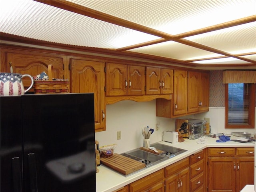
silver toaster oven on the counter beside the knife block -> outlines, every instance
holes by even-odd
[[[204,136],[205,130],[204,120],[188,119],[188,138],[197,139]]]

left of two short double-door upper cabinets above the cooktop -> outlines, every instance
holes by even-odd
[[[145,68],[106,63],[106,96],[144,95]]]

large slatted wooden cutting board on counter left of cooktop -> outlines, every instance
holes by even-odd
[[[124,175],[128,175],[145,167],[144,163],[138,162],[117,153],[114,153],[110,157],[101,157],[100,163]]]

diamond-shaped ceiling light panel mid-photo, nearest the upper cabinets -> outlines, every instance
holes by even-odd
[[[195,59],[195,55],[197,56],[197,58],[222,56],[220,54],[215,54],[173,41],[135,48],[129,51],[156,55],[166,58],[174,58],[178,60],[192,60]]]

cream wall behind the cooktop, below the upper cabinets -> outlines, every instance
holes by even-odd
[[[194,115],[182,118],[194,118]],[[160,124],[158,131],[157,122]],[[95,139],[99,141],[99,146],[117,144],[114,152],[126,152],[143,145],[141,128],[145,126],[155,130],[150,142],[159,142],[164,130],[175,130],[175,119],[156,117],[156,100],[121,101],[106,106],[106,131],[95,133]],[[121,140],[116,140],[117,131],[121,131]]]

